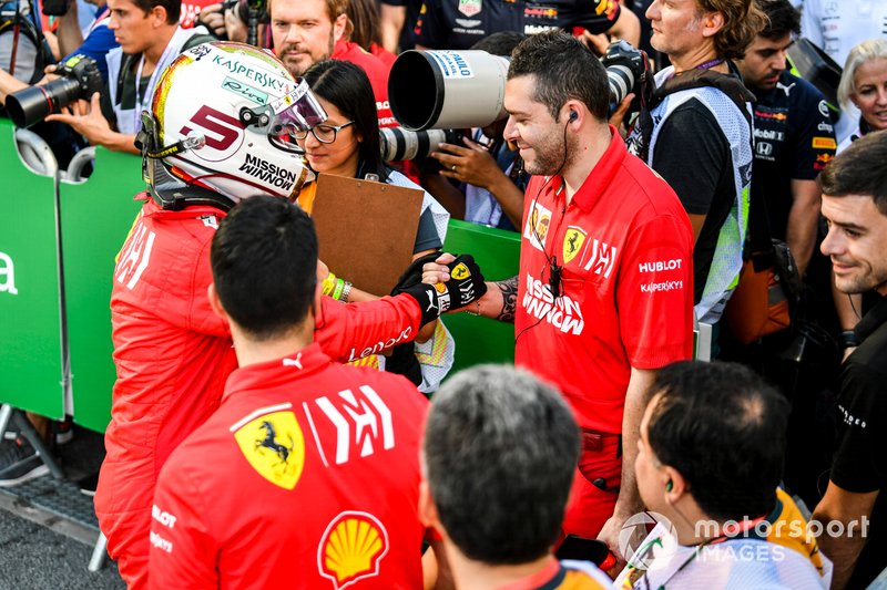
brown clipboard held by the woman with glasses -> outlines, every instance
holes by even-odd
[[[356,288],[388,294],[412,261],[422,196],[415,188],[318,175],[312,217],[320,260]]]

